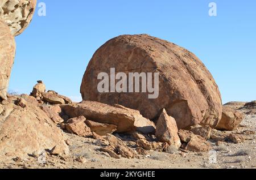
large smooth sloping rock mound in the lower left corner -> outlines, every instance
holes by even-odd
[[[25,157],[56,145],[68,153],[61,131],[43,110],[28,102],[22,108],[15,105],[13,99],[7,105],[0,105],[1,158]]]

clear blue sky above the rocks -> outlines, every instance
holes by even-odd
[[[38,0],[16,37],[12,91],[30,93],[36,80],[47,89],[80,98],[82,75],[93,53],[118,35],[147,33],[183,46],[209,68],[223,102],[256,100],[256,1]],[[208,15],[217,3],[217,16]],[[38,9],[37,9],[38,10]]]

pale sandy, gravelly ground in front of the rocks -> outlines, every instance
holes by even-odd
[[[246,130],[246,131],[245,131]],[[241,144],[234,144],[226,141],[220,146],[216,146],[214,140],[210,139],[212,151],[209,153],[176,152],[174,154],[166,152],[150,152],[150,156],[140,156],[139,159],[115,159],[107,153],[98,151],[101,147],[97,140],[91,138],[81,138],[76,135],[64,132],[68,139],[70,155],[67,157],[46,156],[39,158],[28,157],[25,160],[19,158],[15,160],[0,162],[0,168],[82,168],[82,169],[148,169],[148,168],[256,168],[256,146],[255,132],[256,115],[246,115],[241,123],[241,127],[234,133],[246,134],[246,141]],[[250,133],[248,133],[250,132]],[[230,132],[214,131],[217,135],[229,135]],[[122,135],[119,135],[122,137]],[[127,142],[133,147],[134,142]],[[78,158],[82,161],[78,160]],[[82,158],[81,158],[82,157]]]

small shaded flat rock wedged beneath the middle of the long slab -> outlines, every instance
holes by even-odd
[[[114,131],[117,130],[117,126],[115,125],[98,123],[98,122],[89,121],[89,120],[86,120],[85,123],[88,127],[90,127],[90,131],[95,132],[100,136],[112,134]]]

